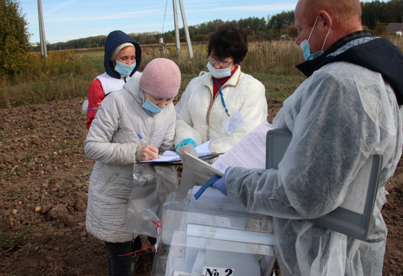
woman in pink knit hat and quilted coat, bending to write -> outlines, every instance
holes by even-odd
[[[138,235],[125,230],[128,201],[133,186],[139,184],[133,180],[136,167],[148,166],[135,165],[133,170],[133,164],[174,150],[172,100],[180,80],[175,62],[151,60],[143,73],[133,75],[122,89],[102,101],[84,142],[86,155],[96,160],[86,228],[106,244],[109,275],[131,275],[132,256],[122,255],[132,252],[132,240]]]

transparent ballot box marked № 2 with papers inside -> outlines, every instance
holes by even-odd
[[[272,275],[272,217],[247,213],[216,189],[195,200],[199,188],[168,195],[151,275]]]

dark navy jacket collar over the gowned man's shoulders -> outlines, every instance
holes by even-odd
[[[397,103],[403,104],[403,54],[386,38],[375,38],[368,31],[351,33],[330,46],[321,56],[296,67],[310,77],[322,66],[337,61],[354,63],[382,75],[393,88]]]

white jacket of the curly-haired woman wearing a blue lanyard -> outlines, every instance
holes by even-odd
[[[194,78],[187,85],[175,105],[175,145],[191,138],[196,145],[211,139],[211,152],[225,153],[264,120],[267,120],[267,102],[264,86],[250,75],[241,72],[241,66],[221,88],[230,115],[239,111],[244,124],[230,135],[223,122],[228,119],[221,96],[213,99],[213,76],[210,73]]]

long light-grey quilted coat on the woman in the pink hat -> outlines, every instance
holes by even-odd
[[[88,190],[86,228],[102,241],[126,242],[135,237],[124,231],[124,225],[133,164],[141,161],[137,133],[160,152],[173,150],[175,108],[169,104],[159,113],[142,108],[141,75],[131,77],[123,89],[102,101],[84,142],[86,155],[96,160]]]

